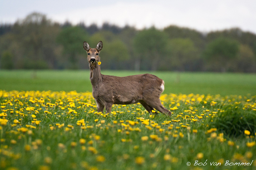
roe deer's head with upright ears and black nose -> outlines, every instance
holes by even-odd
[[[83,42],[83,49],[87,51],[87,60],[89,65],[96,65],[100,61],[100,50],[103,48],[103,43],[100,41],[96,48],[90,48],[87,42]]]

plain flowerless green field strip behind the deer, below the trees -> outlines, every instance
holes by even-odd
[[[150,73],[165,81],[164,94],[256,95],[256,74],[102,71],[127,76]],[[11,91],[92,91],[88,70],[1,70],[0,89]]]

